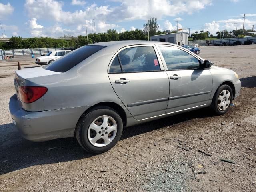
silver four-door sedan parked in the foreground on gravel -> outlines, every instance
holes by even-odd
[[[239,96],[237,74],[166,42],[83,46],[42,68],[17,70],[9,109],[22,136],[75,136],[102,153],[123,127],[210,107],[224,114]]]

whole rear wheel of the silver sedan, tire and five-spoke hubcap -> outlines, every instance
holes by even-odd
[[[103,153],[121,138],[123,122],[116,110],[98,106],[83,115],[76,126],[76,139],[88,152]]]

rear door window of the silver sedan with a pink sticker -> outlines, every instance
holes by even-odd
[[[152,46],[127,48],[118,55],[123,72],[160,71]]]

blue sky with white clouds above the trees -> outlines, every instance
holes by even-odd
[[[190,28],[190,32],[242,28],[256,25],[256,0],[0,0],[0,20],[5,37],[85,35],[116,29],[142,29],[157,17],[160,30]],[[93,20],[94,19],[94,20]],[[255,26],[256,28],[256,26]],[[0,29],[0,37],[2,38]]]

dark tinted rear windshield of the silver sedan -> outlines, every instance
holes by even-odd
[[[104,47],[106,46],[86,45],[80,47],[72,51],[72,53],[62,56],[51,64],[46,65],[44,69],[55,72],[66,72]]]

